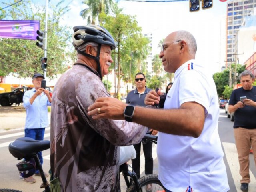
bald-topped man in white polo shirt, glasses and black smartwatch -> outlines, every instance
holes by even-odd
[[[227,192],[216,86],[212,75],[194,60],[196,50],[189,32],[176,31],[165,38],[159,57],[164,70],[174,73],[174,83],[163,110],[132,108],[114,98],[98,98],[88,114],[94,119],[129,116],[133,122],[158,130],[159,179],[166,192]],[[158,104],[161,94],[150,91],[145,104]]]

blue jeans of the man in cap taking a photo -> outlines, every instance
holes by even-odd
[[[44,131],[45,131],[45,128],[25,129],[25,137],[30,137],[34,140],[42,141],[44,140]],[[40,160],[40,163],[43,164],[42,151],[40,151],[37,155]],[[39,170],[36,170],[36,174],[38,173],[39,173]]]

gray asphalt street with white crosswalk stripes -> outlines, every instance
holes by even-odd
[[[0,107],[1,108],[1,107]],[[1,114],[0,114],[1,118]],[[1,120],[1,119],[0,119]],[[15,118],[12,119],[15,121]],[[230,186],[230,192],[240,192],[240,175],[239,175],[239,164],[238,164],[238,155],[236,152],[236,147],[234,144],[234,134],[233,134],[233,123],[227,115],[225,114],[224,109],[220,109],[219,117],[219,134],[220,140],[222,142],[222,147],[224,150],[224,162],[226,164],[226,170],[228,173],[228,183]],[[8,122],[1,122],[1,124],[8,124]],[[50,128],[46,128],[45,140],[50,139]],[[24,130],[12,130],[7,132],[0,132],[0,160],[2,166],[0,168],[0,188],[13,188],[22,190],[24,192],[38,192],[42,191],[40,189],[41,178],[34,176],[36,183],[29,184],[24,182],[19,178],[18,169],[16,164],[20,161],[17,161],[8,151],[8,145],[11,141],[15,140],[18,137],[24,136]],[[143,150],[141,150],[143,151]],[[50,150],[43,151],[44,171],[50,169]],[[207,151],[206,151],[207,152]],[[156,156],[156,145],[153,144],[153,158],[154,158],[154,174],[158,174],[158,161]],[[129,162],[130,163],[130,162]],[[144,155],[141,154],[141,176],[144,176]],[[250,154],[250,176],[251,182],[249,184],[249,192],[255,192],[256,190],[256,179],[255,179],[255,164],[253,159],[253,154]],[[121,188],[122,191],[125,191],[126,186],[124,180],[121,178]],[[49,180],[49,177],[47,178]]]

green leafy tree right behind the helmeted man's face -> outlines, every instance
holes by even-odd
[[[138,26],[134,16],[125,15],[116,7],[114,9],[115,16],[109,16],[101,13],[99,18],[102,20],[104,26],[110,34],[112,34],[116,41],[116,50],[112,51],[114,54],[114,67],[117,73],[117,95],[120,92],[120,80],[124,78],[126,82],[131,80],[130,77],[136,72],[144,72],[146,64],[145,58],[149,52],[149,40],[145,38]]]

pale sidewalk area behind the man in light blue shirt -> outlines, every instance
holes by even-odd
[[[20,106],[0,106],[0,133],[23,129],[25,126],[26,111]],[[48,113],[50,123],[50,113]]]

